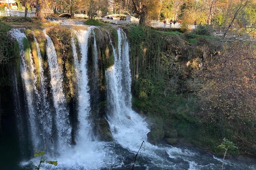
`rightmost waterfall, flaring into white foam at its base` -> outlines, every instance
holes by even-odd
[[[118,58],[114,49],[114,66],[106,71],[108,120],[115,140],[123,147],[136,151],[147,140],[147,123],[131,109],[131,75],[127,37],[118,30]]]

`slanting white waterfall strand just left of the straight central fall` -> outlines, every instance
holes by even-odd
[[[56,129],[53,133],[57,133],[59,149],[65,149],[65,146],[71,141],[71,127],[68,117],[68,108],[66,106],[65,95],[62,88],[63,76],[57,63],[57,54],[51,38],[46,34],[47,38],[46,53],[48,57],[49,69],[51,72],[51,87],[54,99],[54,108],[56,110],[55,124]]]

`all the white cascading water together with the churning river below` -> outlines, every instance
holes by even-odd
[[[98,61],[100,56],[98,56],[99,49],[97,47],[98,42],[96,41],[96,37],[99,35],[95,34],[97,31],[95,30],[94,32],[94,29],[98,28],[84,26],[80,30],[73,30],[80,50],[77,49],[75,39],[71,39],[74,69],[77,78],[76,95],[78,101],[76,108],[78,111],[78,125],[75,131],[75,145],[70,144],[70,115],[62,86],[64,73],[57,62],[57,55],[51,38],[46,34],[46,30],[44,30],[44,35],[47,38],[46,53],[51,77],[50,92],[46,88],[45,74],[47,73],[44,73],[42,57],[36,38],[34,39],[39,58],[40,90],[36,88],[36,76],[34,75],[30,51],[30,64],[26,62],[23,47],[23,38],[26,38],[26,35],[19,29],[11,30],[11,34],[18,40],[20,45],[21,76],[25,87],[24,91],[29,113],[29,135],[33,141],[33,147],[40,146],[41,144],[44,145],[44,140],[47,140],[47,138],[48,141],[53,141],[53,144],[48,143],[50,146],[47,146],[48,150],[46,152],[49,149],[54,152],[53,154],[47,153],[45,157],[49,160],[57,160],[58,165],[56,167],[45,165],[46,169],[128,170],[132,167],[135,154],[140,148],[142,141],[145,141],[145,151],[141,152],[141,157],[137,157],[135,169],[208,170],[219,168],[222,162],[204,152],[191,151],[169,145],[154,146],[147,142],[147,133],[150,132],[147,127],[148,124],[143,117],[131,108],[129,45],[126,34],[122,29],[117,30],[118,50],[114,47],[114,43],[109,35],[110,43],[113,47],[114,65],[106,69],[105,72],[106,99],[104,100],[106,100],[107,104],[106,119],[115,141],[103,142],[94,140],[92,137],[94,122],[90,117],[94,111],[91,106],[91,98],[97,93],[90,89],[88,85],[90,81],[93,81],[93,86],[96,86],[95,82],[99,79]],[[91,47],[88,42],[90,42],[91,35],[94,38],[93,57],[88,56],[88,47]],[[78,58],[78,53],[80,53],[81,58]],[[88,74],[88,57],[93,58],[91,77]],[[91,93],[95,94],[91,95]],[[54,108],[49,108],[51,107],[51,104],[49,104],[50,99],[47,98],[49,95],[52,95]],[[49,140],[49,138],[51,139]],[[38,160],[32,160],[32,164],[36,165],[37,163]],[[30,165],[23,162],[23,166],[29,167]],[[234,169],[245,167],[246,164],[239,165],[232,161],[227,161],[225,166],[226,169]],[[250,165],[246,168],[255,169],[255,166]]]

